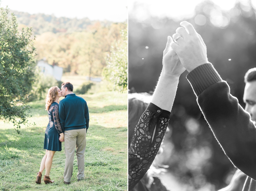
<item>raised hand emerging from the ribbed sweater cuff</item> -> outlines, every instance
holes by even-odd
[[[172,41],[170,46],[179,56],[181,64],[191,72],[199,65],[208,63],[206,45],[189,22],[183,21],[180,25],[182,27],[177,28],[172,36],[177,43]]]

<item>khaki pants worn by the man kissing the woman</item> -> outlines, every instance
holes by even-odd
[[[73,163],[75,148],[77,149],[77,179],[84,178],[84,152],[86,146],[86,129],[75,129],[65,131],[65,169],[64,169],[64,181],[70,182],[73,174]]]

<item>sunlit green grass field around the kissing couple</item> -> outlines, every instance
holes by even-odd
[[[77,182],[77,161],[71,184],[63,183],[64,144],[53,158],[53,184],[36,184],[36,174],[45,154],[44,131],[48,114],[44,100],[31,102],[29,122],[18,135],[0,120],[0,190],[127,190],[127,94],[101,92],[80,95],[89,107],[90,126],[86,135],[85,180]],[[44,171],[45,173],[45,171]],[[43,173],[43,175],[44,175]]]

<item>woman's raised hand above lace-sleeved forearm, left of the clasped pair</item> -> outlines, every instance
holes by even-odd
[[[173,42],[172,38],[168,36],[166,48],[163,56],[163,70],[162,74],[166,77],[178,77],[186,70],[181,64],[178,55],[170,44]]]

